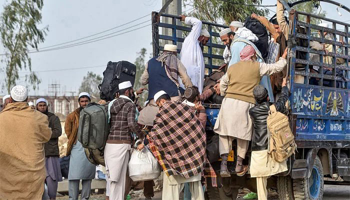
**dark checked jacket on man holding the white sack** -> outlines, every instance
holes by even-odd
[[[135,121],[136,106],[129,99],[119,97],[110,106],[110,140],[131,141],[131,132],[143,139],[144,134]],[[113,141],[116,142],[116,141]]]

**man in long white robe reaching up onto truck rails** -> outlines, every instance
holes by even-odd
[[[202,92],[204,81],[204,58],[202,49],[210,39],[210,34],[206,29],[201,29],[201,21],[195,17],[180,15],[181,21],[187,25],[192,25],[189,34],[184,38],[180,51],[180,59],[186,67],[187,74],[193,85]],[[181,85],[182,88],[183,85]]]

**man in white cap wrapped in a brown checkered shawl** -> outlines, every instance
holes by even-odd
[[[216,186],[216,175],[205,154],[205,131],[191,108],[170,100],[165,91],[154,95],[159,112],[149,133],[149,147],[164,171],[162,199],[179,199],[189,183],[192,199],[204,199],[201,174]]]

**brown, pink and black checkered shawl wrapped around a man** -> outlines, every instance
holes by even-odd
[[[149,133],[149,147],[166,175],[189,178],[198,173],[211,177],[216,174],[205,154],[205,131],[190,107],[183,103],[164,103],[154,118]]]

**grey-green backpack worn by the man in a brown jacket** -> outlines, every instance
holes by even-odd
[[[91,163],[104,166],[103,150],[108,134],[108,109],[105,105],[90,102],[80,111],[77,139]]]

